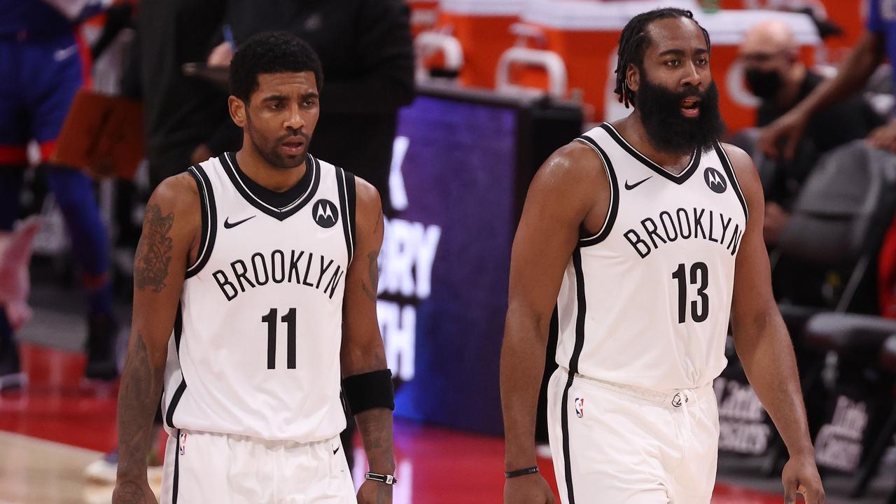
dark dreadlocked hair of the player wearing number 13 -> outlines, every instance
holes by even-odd
[[[650,43],[650,37],[647,35],[647,28],[650,26],[650,23],[671,18],[694,20],[694,13],[685,9],[667,7],[640,13],[634,16],[631,21],[625,23],[622,35],[619,36],[618,59],[616,60],[616,89],[614,92],[619,95],[619,102],[624,104],[626,109],[628,109],[630,104],[634,103],[635,98],[635,92],[629,89],[628,84],[625,83],[625,73],[628,70],[628,65],[642,65],[644,49]],[[709,50],[710,33],[700,26],[699,22],[697,22],[697,26],[703,32],[703,38],[706,39],[706,49]]]

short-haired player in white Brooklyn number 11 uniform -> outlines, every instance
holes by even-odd
[[[134,258],[113,504],[155,503],[146,476],[162,402],[162,504],[389,504],[392,375],[376,322],[376,189],[308,153],[321,64],[288,33],[230,65],[243,148],[165,179]],[[357,500],[340,444],[344,391],[370,472]]]

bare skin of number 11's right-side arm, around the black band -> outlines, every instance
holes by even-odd
[[[379,280],[376,257],[383,244],[383,207],[374,187],[360,178],[356,178],[356,184],[358,240],[345,283],[345,329],[341,354],[343,377],[387,368],[383,337],[376,322],[376,286]],[[364,441],[370,471],[393,474],[392,412],[386,408],[371,408],[355,415],[355,421]],[[358,491],[358,504],[389,502],[392,502],[390,485],[367,481]]]

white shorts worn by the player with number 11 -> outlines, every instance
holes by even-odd
[[[175,430],[161,504],[356,504],[339,436],[314,443]]]

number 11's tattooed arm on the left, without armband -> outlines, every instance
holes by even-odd
[[[155,503],[146,479],[153,417],[159,407],[186,266],[201,227],[199,194],[187,174],[168,178],[146,205],[134,256],[134,317],[118,390],[118,477],[113,504]]]

